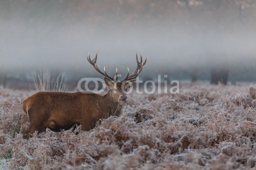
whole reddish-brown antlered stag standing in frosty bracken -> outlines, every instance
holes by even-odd
[[[29,117],[30,126],[23,138],[28,139],[35,131],[45,132],[46,128],[54,132],[61,129],[67,130],[74,125],[81,125],[84,131],[90,131],[100,118],[108,118],[111,115],[119,116],[122,113],[122,104],[127,96],[125,90],[136,82],[136,77],[141,72],[147,59],[140,61],[136,54],[137,68],[130,74],[129,68],[124,80],[117,80],[117,69],[115,76],[111,77],[100,71],[97,67],[97,54],[95,59],[87,57],[88,62],[104,76],[106,85],[109,87],[108,94],[85,94],[83,92],[37,92],[24,100],[22,108]],[[124,89],[124,90],[122,90]]]

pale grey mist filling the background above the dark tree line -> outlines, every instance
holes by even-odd
[[[253,1],[8,1],[0,2],[0,71],[47,67],[95,74],[86,56],[98,53],[109,73],[143,74],[256,68]],[[147,75],[149,76],[149,75]]]

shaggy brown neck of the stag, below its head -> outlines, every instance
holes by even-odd
[[[111,90],[104,96],[104,101],[106,103],[105,109],[108,111],[109,116],[120,116],[122,114],[122,105],[114,101]]]

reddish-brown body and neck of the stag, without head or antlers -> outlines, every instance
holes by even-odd
[[[67,130],[76,124],[82,125],[84,131],[90,131],[100,118],[108,118],[114,113],[121,115],[122,106],[111,98],[111,92],[105,96],[38,92],[23,102],[23,110],[31,122],[27,136],[35,131],[45,132],[46,128],[56,132]]]

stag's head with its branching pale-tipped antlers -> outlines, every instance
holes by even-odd
[[[109,96],[113,99],[115,103],[124,104],[126,103],[126,92],[129,90],[134,83],[136,83],[136,78],[142,71],[143,66],[146,64],[147,59],[143,62],[143,59],[140,55],[140,61],[138,60],[138,55],[136,53],[136,62],[137,62],[137,68],[136,70],[130,74],[129,67],[127,67],[127,75],[122,81],[118,81],[118,72],[116,68],[115,76],[109,76],[108,73],[106,73],[106,67],[104,67],[104,72],[100,71],[99,67],[97,66],[97,53],[95,55],[95,58],[92,60],[90,58],[90,54],[87,57],[88,62],[92,64],[92,66],[104,76],[104,81],[106,85],[109,87]]]

